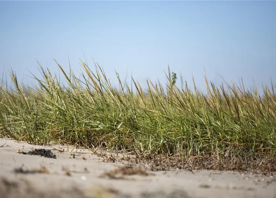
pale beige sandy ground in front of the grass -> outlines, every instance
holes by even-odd
[[[25,155],[20,151],[52,150],[56,158]],[[19,151],[19,152],[18,152]],[[73,156],[75,154],[75,156]],[[1,197],[276,197],[276,174],[243,174],[233,171],[147,171],[133,175],[105,174],[127,162],[103,162],[87,149],[67,146],[34,146],[0,138]],[[41,173],[16,173],[40,170]],[[138,170],[135,172],[135,170]],[[118,171],[117,171],[118,172]],[[137,173],[137,174],[135,174]],[[105,177],[101,177],[105,175]]]

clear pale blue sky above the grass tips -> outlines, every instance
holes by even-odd
[[[28,85],[36,59],[57,72],[69,56],[78,73],[82,50],[114,83],[114,68],[165,83],[168,64],[200,89],[204,68],[215,84],[276,82],[276,1],[0,1],[0,19],[0,71]]]

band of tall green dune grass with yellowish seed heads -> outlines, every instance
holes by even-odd
[[[142,90],[120,80],[112,86],[103,69],[95,72],[81,62],[85,73],[78,79],[70,68],[57,75],[41,71],[34,76],[40,87],[23,88],[14,72],[16,89],[0,89],[0,136],[31,144],[102,146],[113,150],[167,156],[205,156],[225,159],[236,156],[273,156],[276,151],[276,95],[265,87],[263,94],[236,84],[215,87],[206,80],[207,93],[175,85],[168,71],[163,88],[147,80]],[[124,87],[124,88],[123,88]]]

